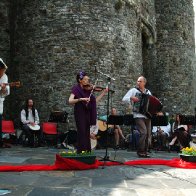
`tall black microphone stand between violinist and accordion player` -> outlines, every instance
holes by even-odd
[[[108,74],[102,73],[99,70],[97,70],[97,72],[107,78],[107,88],[108,88],[108,92],[107,92],[107,121],[106,121],[106,148],[105,148],[105,156],[99,160],[99,161],[104,161],[104,164],[103,164],[103,168],[104,168],[106,165],[106,161],[118,162],[120,164],[123,164],[123,163],[119,162],[119,161],[115,161],[115,160],[110,160],[109,155],[108,155],[108,128],[109,128],[108,119],[109,119],[109,105],[110,105],[110,85],[111,85],[111,80],[115,80],[115,79],[112,78],[111,76],[109,76]]]

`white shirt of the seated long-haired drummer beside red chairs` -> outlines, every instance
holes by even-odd
[[[35,119],[33,117],[32,110],[28,109],[28,111],[29,111],[28,119],[26,119],[26,112],[25,112],[25,110],[23,109],[21,111],[21,122],[23,124],[29,124],[30,122],[35,122],[35,124],[38,125],[39,124],[39,116],[38,116],[37,110],[35,109]]]

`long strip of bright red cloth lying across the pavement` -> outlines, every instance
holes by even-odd
[[[122,165],[118,162],[100,162],[95,161],[94,164],[88,165],[73,159],[62,158],[56,155],[56,161],[54,165],[1,165],[0,172],[21,172],[21,171],[52,171],[52,170],[87,170],[96,169],[99,166],[115,166]],[[183,169],[196,169],[196,163],[185,162],[179,158],[171,160],[164,159],[139,159],[133,161],[124,162],[125,166],[133,165],[165,165],[169,167],[183,168]]]

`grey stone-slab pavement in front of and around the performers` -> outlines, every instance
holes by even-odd
[[[12,148],[0,149],[0,165],[5,164],[53,164],[55,148]],[[97,157],[104,157],[105,150],[96,150]],[[112,160],[113,149],[107,153]],[[152,152],[152,158],[171,159],[175,152]],[[116,160],[138,159],[133,151],[118,150]],[[193,196],[196,194],[196,170],[166,166],[111,166],[85,171],[39,171],[1,172],[0,195],[14,196],[126,196],[164,195]]]

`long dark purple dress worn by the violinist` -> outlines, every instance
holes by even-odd
[[[84,90],[78,84],[72,88],[75,99],[88,98],[90,91]],[[90,125],[96,125],[97,111],[96,99],[91,95],[90,102],[78,102],[74,106],[74,117],[77,127],[77,153],[91,151]]]

